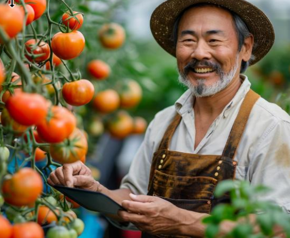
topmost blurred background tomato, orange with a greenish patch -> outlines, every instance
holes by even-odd
[[[103,47],[117,49],[125,41],[125,31],[117,23],[104,24],[99,31],[99,39]]]

